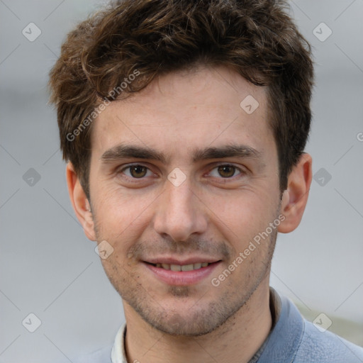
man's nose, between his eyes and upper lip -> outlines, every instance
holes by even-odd
[[[159,199],[154,218],[154,228],[163,238],[184,242],[191,235],[206,231],[208,219],[206,206],[195,191],[189,179],[175,186],[169,180]]]

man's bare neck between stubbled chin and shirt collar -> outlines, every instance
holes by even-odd
[[[140,318],[124,303],[128,362],[249,362],[272,327],[269,279],[265,279],[240,310],[212,333],[199,337],[168,335]]]

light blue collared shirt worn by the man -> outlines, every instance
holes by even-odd
[[[289,298],[270,289],[272,330],[249,363],[363,363],[363,348],[301,316]],[[130,363],[125,354],[126,325],[113,347],[99,350],[79,363]]]

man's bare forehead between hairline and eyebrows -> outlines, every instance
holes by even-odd
[[[190,161],[191,150],[231,144],[263,153],[274,148],[267,116],[266,88],[230,69],[173,72],[102,111],[93,125],[92,154],[125,143]]]

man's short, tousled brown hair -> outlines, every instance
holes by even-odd
[[[123,94],[140,91],[156,75],[200,64],[231,67],[267,86],[280,189],[286,189],[308,138],[313,87],[311,46],[288,8],[284,0],[124,0],[79,23],[50,72],[50,89],[63,158],[86,195],[95,108],[115,99],[110,93],[130,74],[138,77]]]

